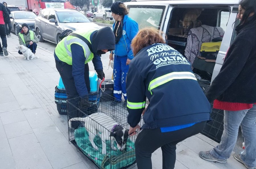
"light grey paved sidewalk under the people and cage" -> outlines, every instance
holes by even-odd
[[[69,144],[67,116],[59,115],[54,103],[59,73],[53,54],[38,47],[40,59],[23,60],[15,49],[18,38],[8,37],[7,43],[9,55],[0,57],[0,168],[96,168]],[[175,168],[245,168],[233,157],[218,164],[198,156],[217,144],[201,134],[182,141]],[[153,153],[152,163],[153,168],[162,168],[160,149]]]

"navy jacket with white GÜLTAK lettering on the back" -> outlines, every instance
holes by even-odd
[[[210,119],[210,103],[199,86],[190,63],[166,44],[144,47],[130,62],[126,81],[127,121],[142,128],[170,127]]]

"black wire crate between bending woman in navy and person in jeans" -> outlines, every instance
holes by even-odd
[[[209,89],[209,87],[210,86],[207,87],[205,92]],[[211,104],[211,107],[213,107],[213,104]],[[224,130],[224,111],[212,108],[210,117],[212,120],[206,123],[205,128],[201,133],[208,138],[220,143],[221,136]]]

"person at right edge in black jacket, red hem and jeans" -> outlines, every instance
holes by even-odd
[[[226,163],[241,125],[245,151],[234,158],[256,169],[256,3],[241,0],[237,36],[226,54],[220,73],[206,93],[213,108],[224,110],[224,131],[220,144],[199,156],[207,161]]]

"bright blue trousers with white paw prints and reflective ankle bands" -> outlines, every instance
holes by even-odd
[[[126,75],[129,70],[129,65],[126,65],[127,57],[114,56],[114,97],[117,100],[121,100],[122,94],[124,99],[126,96]]]

